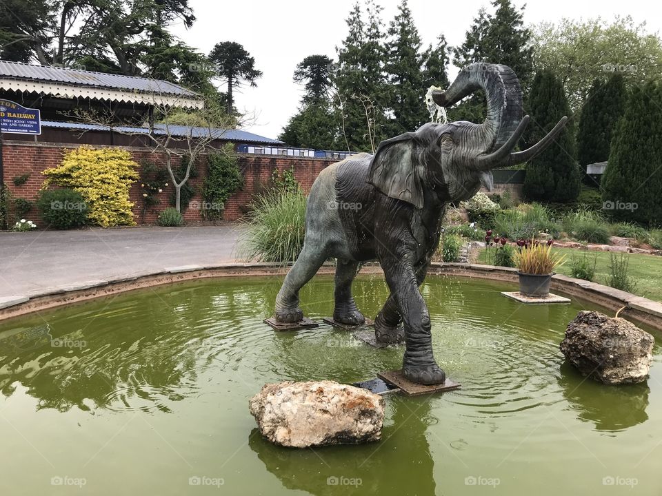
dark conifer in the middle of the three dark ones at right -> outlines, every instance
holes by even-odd
[[[596,79],[588,92],[577,129],[577,161],[579,165],[605,162],[609,158],[612,131],[625,110],[628,92],[622,74],[608,81]]]

